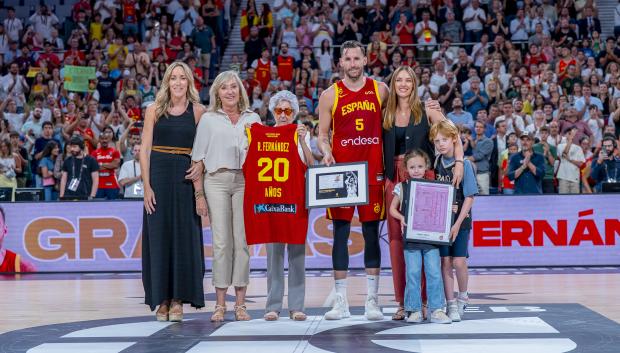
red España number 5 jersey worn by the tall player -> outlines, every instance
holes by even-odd
[[[334,85],[332,154],[336,163],[368,161],[368,184],[383,185],[383,130],[377,81],[365,78],[364,87],[349,90]]]

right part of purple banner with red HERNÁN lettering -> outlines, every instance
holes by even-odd
[[[472,266],[620,265],[620,194],[478,197]]]

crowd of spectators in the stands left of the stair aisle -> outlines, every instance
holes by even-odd
[[[63,161],[80,145],[98,164],[89,167],[98,169],[97,195],[115,199],[123,187],[126,196],[139,194],[139,165],[121,166],[139,150],[143,112],[167,65],[189,63],[207,97],[238,6],[236,0],[78,0],[64,17],[42,2],[29,18],[4,8],[0,187],[43,187],[46,200],[57,199],[63,172],[72,174]],[[95,68],[87,91],[65,88],[69,65]],[[94,195],[85,192],[77,196]]]

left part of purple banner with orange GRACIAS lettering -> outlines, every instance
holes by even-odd
[[[55,202],[0,204],[6,213],[4,248],[31,262],[37,271],[139,271],[143,203]],[[203,219],[205,264],[213,248],[208,219]],[[310,211],[307,268],[331,268],[332,222],[324,209]],[[387,243],[383,242],[389,259]],[[351,267],[363,267],[364,238],[354,219],[349,239]],[[252,269],[265,269],[264,245],[250,246]],[[389,261],[389,260],[388,260]]]

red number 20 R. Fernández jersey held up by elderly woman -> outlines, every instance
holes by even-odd
[[[306,165],[297,144],[297,125],[253,124],[243,165],[243,213],[248,245],[304,244],[308,231]]]

